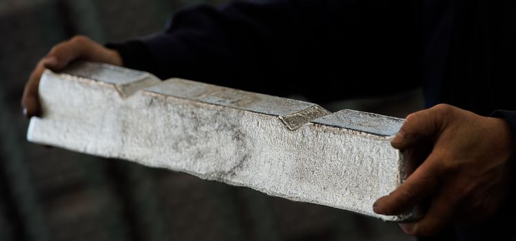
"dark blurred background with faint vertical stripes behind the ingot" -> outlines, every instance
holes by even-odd
[[[222,1],[0,0],[0,240],[414,240],[348,211],[26,141],[23,85],[52,45],[157,32],[197,3]],[[420,96],[321,104],[404,117]]]

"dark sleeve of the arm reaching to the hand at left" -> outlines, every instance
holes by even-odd
[[[177,12],[164,32],[108,44],[126,67],[319,101],[420,84],[417,1],[233,1]]]

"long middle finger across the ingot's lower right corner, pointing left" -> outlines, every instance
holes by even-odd
[[[430,154],[413,174],[408,176],[404,184],[388,196],[379,198],[373,205],[373,211],[384,215],[397,215],[409,211],[429,196],[439,185],[441,170],[438,158],[436,154]]]

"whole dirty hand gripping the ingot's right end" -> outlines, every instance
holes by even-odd
[[[404,184],[375,202],[376,213],[397,215],[428,198],[421,220],[399,225],[410,235],[433,235],[450,224],[487,218],[506,200],[513,155],[506,121],[436,105],[408,115],[391,145],[414,154],[425,143],[429,155]]]

